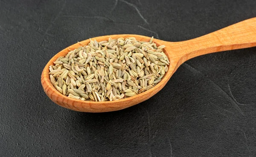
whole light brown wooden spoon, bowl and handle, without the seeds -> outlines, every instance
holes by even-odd
[[[92,40],[96,39],[98,42],[100,42],[103,40],[108,40],[109,37],[111,37],[112,39],[117,39],[119,37],[135,37],[137,40],[140,41],[150,40],[150,37],[148,36],[134,34],[99,36],[92,38]],[[52,57],[52,59],[44,67],[41,75],[41,83],[44,88],[44,92],[56,104],[67,109],[72,109],[80,112],[110,112],[131,107],[133,105],[139,104],[142,101],[147,100],[148,98],[159,92],[168,82],[172,74],[175,73],[180,64],[191,58],[207,53],[256,46],[256,18],[244,20],[234,25],[230,25],[229,27],[223,28],[219,31],[215,31],[213,33],[183,42],[166,42],[159,39],[154,39],[153,41],[157,45],[166,45],[166,47],[164,48],[164,52],[168,56],[171,63],[169,65],[168,71],[162,78],[162,81],[160,81],[155,87],[151,88],[148,91],[145,91],[133,97],[124,98],[117,101],[104,102],[81,101],[62,95],[57,90],[55,90],[50,82],[48,74],[49,66],[53,65],[53,62],[59,56],[65,56],[70,50],[74,50],[81,46],[81,44],[76,43],[69,46],[68,48],[65,48],[64,50],[61,50],[54,57]],[[87,39],[82,41],[81,43],[87,45],[89,42],[90,40]]]

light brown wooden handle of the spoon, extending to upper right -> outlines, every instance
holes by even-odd
[[[195,39],[170,44],[172,50],[182,55],[183,62],[207,53],[253,46],[256,46],[256,17]]]

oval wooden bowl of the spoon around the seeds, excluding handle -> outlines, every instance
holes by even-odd
[[[76,44],[73,44],[64,50],[61,50],[59,53],[57,53],[55,56],[52,57],[52,59],[49,60],[47,65],[44,67],[44,70],[41,75],[41,84],[44,89],[44,92],[47,94],[47,96],[56,104],[60,105],[61,107],[65,107],[67,109],[72,109],[79,112],[111,112],[111,111],[117,111],[120,109],[125,109],[128,107],[131,107],[133,105],[139,104],[142,101],[147,100],[148,98],[151,98],[151,96],[155,95],[157,92],[159,92],[167,83],[169,78],[172,76],[171,67],[172,65],[169,64],[169,69],[166,72],[165,76],[163,76],[162,80],[156,84],[153,88],[150,90],[147,90],[143,93],[140,93],[138,95],[123,98],[120,100],[115,101],[103,101],[103,102],[96,102],[96,101],[82,101],[77,100],[75,98],[70,98],[65,95],[62,95],[59,93],[54,86],[52,85],[50,78],[49,78],[49,66],[53,64],[53,62],[60,56],[65,56],[70,50],[74,50],[78,48],[81,45],[87,45],[90,40],[96,39],[98,42],[107,40],[109,37],[112,39],[117,39],[119,37],[128,38],[128,37],[135,37],[137,40],[140,41],[149,41],[151,38],[148,36],[142,36],[142,35],[135,35],[135,34],[119,34],[119,35],[108,35],[108,36],[99,36],[94,37],[91,39],[87,39],[81,42],[78,42]],[[159,39],[153,40],[158,46],[164,44],[164,41]],[[163,49],[166,53],[166,49]],[[169,53],[166,53],[166,55],[169,58]]]

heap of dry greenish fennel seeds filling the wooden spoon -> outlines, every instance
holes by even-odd
[[[81,44],[83,45],[83,44]],[[89,101],[114,101],[154,87],[168,70],[164,45],[134,37],[111,39],[71,50],[49,66],[59,93]]]

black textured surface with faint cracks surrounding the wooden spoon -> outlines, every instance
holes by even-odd
[[[69,45],[141,34],[183,41],[256,17],[256,0],[0,0],[0,156],[256,156],[256,48],[199,56],[116,112],[59,107],[41,72]]]

